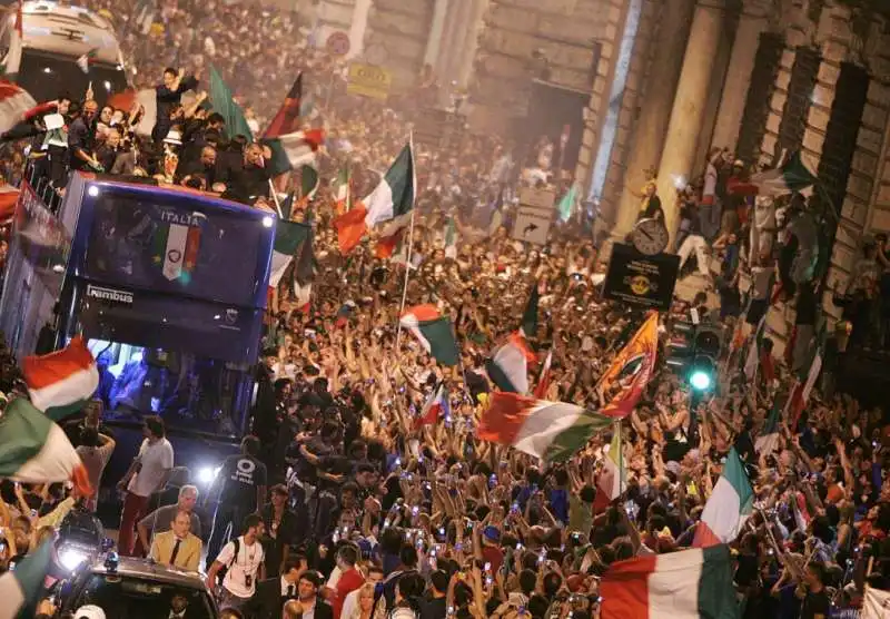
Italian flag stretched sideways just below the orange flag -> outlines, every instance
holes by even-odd
[[[612,419],[575,404],[494,392],[477,436],[547,461],[562,461],[612,423]]]

